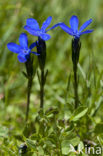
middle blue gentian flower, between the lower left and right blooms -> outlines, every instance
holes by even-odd
[[[24,29],[28,31],[31,35],[38,36],[44,41],[49,40],[51,36],[47,34],[47,32],[51,29],[54,29],[55,27],[59,26],[60,23],[55,24],[51,28],[47,29],[47,27],[50,25],[52,20],[52,17],[49,16],[42,24],[42,27],[40,29],[38,22],[33,18],[28,18],[26,21],[26,25],[24,26]],[[47,30],[46,30],[47,29]]]

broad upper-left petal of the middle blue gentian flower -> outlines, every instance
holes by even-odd
[[[33,18],[28,18],[26,21],[27,26],[29,26],[31,29],[40,30],[38,22]]]

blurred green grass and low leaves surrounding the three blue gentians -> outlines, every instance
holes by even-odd
[[[77,149],[81,143],[84,149],[86,140],[103,146],[102,10],[102,0],[0,1],[0,156],[20,155],[18,148],[24,142],[28,147],[24,154],[27,156],[74,156],[76,153],[69,153],[69,145]],[[52,38],[46,42],[49,73],[45,86],[45,115],[38,114],[40,101],[36,74],[26,125],[27,80],[22,74],[25,66],[6,45],[8,42],[18,43],[29,17],[37,19],[40,25],[48,16],[53,17],[51,26],[57,22],[69,25],[74,14],[79,17],[80,25],[92,18],[90,28],[94,29],[93,33],[81,37],[78,65],[81,107],[74,110],[72,37],[58,27],[49,32]],[[28,37],[29,43],[37,39],[29,34]]]

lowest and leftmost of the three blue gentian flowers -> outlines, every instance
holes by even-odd
[[[28,48],[28,37],[25,33],[20,34],[19,43],[20,45],[17,45],[13,42],[7,44],[7,47],[10,51],[18,54],[19,62],[25,63],[27,59],[29,59],[30,53],[39,55],[38,53],[31,51],[36,46],[36,42],[32,43]]]

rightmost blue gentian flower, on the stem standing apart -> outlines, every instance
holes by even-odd
[[[86,21],[78,30],[79,20],[77,16],[72,16],[70,18],[70,27],[65,25],[64,23],[60,24],[60,27],[69,35],[73,36],[74,38],[80,38],[81,35],[91,33],[93,30],[85,30],[83,31],[90,23],[92,22],[92,19]]]

